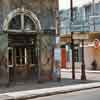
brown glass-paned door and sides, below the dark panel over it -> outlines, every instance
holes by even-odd
[[[9,47],[8,66],[10,81],[36,79],[38,59],[35,47]]]

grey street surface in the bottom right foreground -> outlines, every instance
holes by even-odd
[[[100,88],[40,97],[29,100],[100,100]]]

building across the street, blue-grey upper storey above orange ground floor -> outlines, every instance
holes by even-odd
[[[93,9],[93,6],[94,9]],[[70,21],[70,9],[62,10],[60,15],[60,35],[62,37],[62,44],[64,43],[64,37],[67,41],[67,62],[66,66],[70,67],[72,63],[72,54],[68,37],[71,37],[71,32],[88,33],[89,39],[85,41],[84,56],[85,65],[87,69],[93,69],[93,62],[96,61],[96,69],[100,69],[100,46],[95,48],[94,40],[100,40],[100,2],[83,5],[82,7],[73,8],[73,22]],[[65,42],[66,44],[66,42]],[[99,43],[100,44],[100,43]],[[81,42],[74,50],[75,66],[81,68]]]

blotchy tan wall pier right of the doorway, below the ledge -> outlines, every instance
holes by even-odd
[[[52,72],[52,47],[55,43],[54,35],[44,34],[41,38],[41,76],[48,79]]]

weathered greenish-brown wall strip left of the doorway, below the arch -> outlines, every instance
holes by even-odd
[[[8,35],[0,35],[0,84],[8,83],[8,67],[7,67],[7,48]]]

